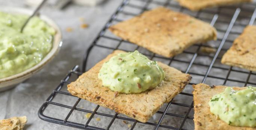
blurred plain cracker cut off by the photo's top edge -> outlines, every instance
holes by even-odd
[[[178,0],[181,6],[192,11],[198,11],[207,7],[226,6],[242,2],[251,2],[252,0]]]

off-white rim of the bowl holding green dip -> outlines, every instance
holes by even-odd
[[[27,14],[30,15],[33,13],[33,10],[20,8],[20,7],[0,7],[1,12],[8,12],[8,13],[15,13],[15,14]],[[48,52],[48,54],[40,61],[38,64],[34,65],[33,67],[26,69],[25,71],[22,71],[18,74],[11,75],[9,77],[0,78],[0,84],[4,82],[11,81],[13,79],[21,79],[23,77],[28,76],[29,74],[32,74],[39,69],[42,69],[44,65],[46,65],[51,59],[54,58],[55,55],[60,51],[60,47],[62,46],[62,34],[60,27],[52,20],[51,18],[40,14],[39,18],[43,21],[45,21],[48,25],[53,27],[56,31],[56,34],[54,35],[54,40],[52,42],[52,49]]]

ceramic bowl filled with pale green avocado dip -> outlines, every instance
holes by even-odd
[[[30,78],[59,52],[61,32],[46,16],[33,17],[20,29],[31,10],[0,8],[0,91]]]

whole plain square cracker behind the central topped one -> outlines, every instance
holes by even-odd
[[[216,29],[210,24],[164,7],[110,26],[109,30],[165,57],[182,53],[195,43],[216,39]]]

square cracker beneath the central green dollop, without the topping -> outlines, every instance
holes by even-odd
[[[175,68],[158,62],[158,65],[165,72],[165,79],[161,84],[152,90],[139,94],[119,93],[115,97],[114,91],[111,91],[108,87],[103,87],[102,81],[98,79],[98,72],[104,62],[118,53],[124,53],[124,51],[116,50],[107,58],[98,62],[75,82],[68,84],[68,91],[72,95],[110,108],[117,113],[146,122],[164,103],[170,102],[175,95],[179,94],[191,80],[189,74],[184,74]]]

